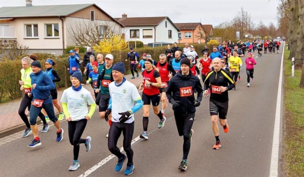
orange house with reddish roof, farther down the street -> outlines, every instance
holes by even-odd
[[[213,36],[212,25],[202,23],[174,23],[179,29],[178,43],[207,43]]]

